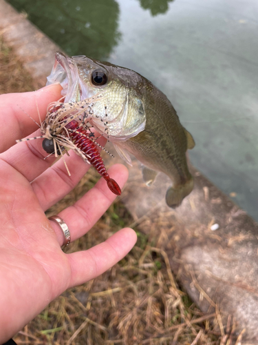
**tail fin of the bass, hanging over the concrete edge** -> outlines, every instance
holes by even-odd
[[[186,182],[186,184],[181,184],[175,188],[170,187],[166,191],[166,204],[171,208],[176,208],[180,206],[184,197],[189,195],[193,190],[193,177]]]

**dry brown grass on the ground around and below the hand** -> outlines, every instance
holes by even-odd
[[[0,40],[0,92],[32,90],[32,79]],[[74,203],[98,177],[90,170],[80,184],[47,213]],[[85,250],[109,237],[132,219],[118,200],[84,237],[67,249]],[[169,229],[167,229],[169,231]],[[14,337],[17,344],[187,344],[230,345],[219,317],[203,315],[179,288],[162,250],[160,231],[138,232],[131,252],[107,273],[67,290]],[[241,339],[237,344],[241,344]]]

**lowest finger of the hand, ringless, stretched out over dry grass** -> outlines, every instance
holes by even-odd
[[[129,253],[136,240],[135,231],[124,228],[93,248],[68,254],[72,272],[69,287],[88,282],[114,266]]]

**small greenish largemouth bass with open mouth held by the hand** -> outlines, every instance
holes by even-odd
[[[63,104],[80,113],[80,119],[84,114],[80,121],[87,120],[87,126],[111,141],[127,164],[130,153],[142,163],[148,186],[158,172],[166,174],[171,179],[166,204],[180,206],[193,190],[186,150],[194,148],[195,141],[163,92],[129,68],[61,52],[56,52],[47,77],[47,85],[52,83],[63,87]]]

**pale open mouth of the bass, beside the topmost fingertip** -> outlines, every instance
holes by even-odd
[[[81,100],[80,79],[76,63],[62,52],[56,52],[54,66],[47,77],[47,84],[60,83],[63,90],[61,95],[65,97],[64,103]]]

